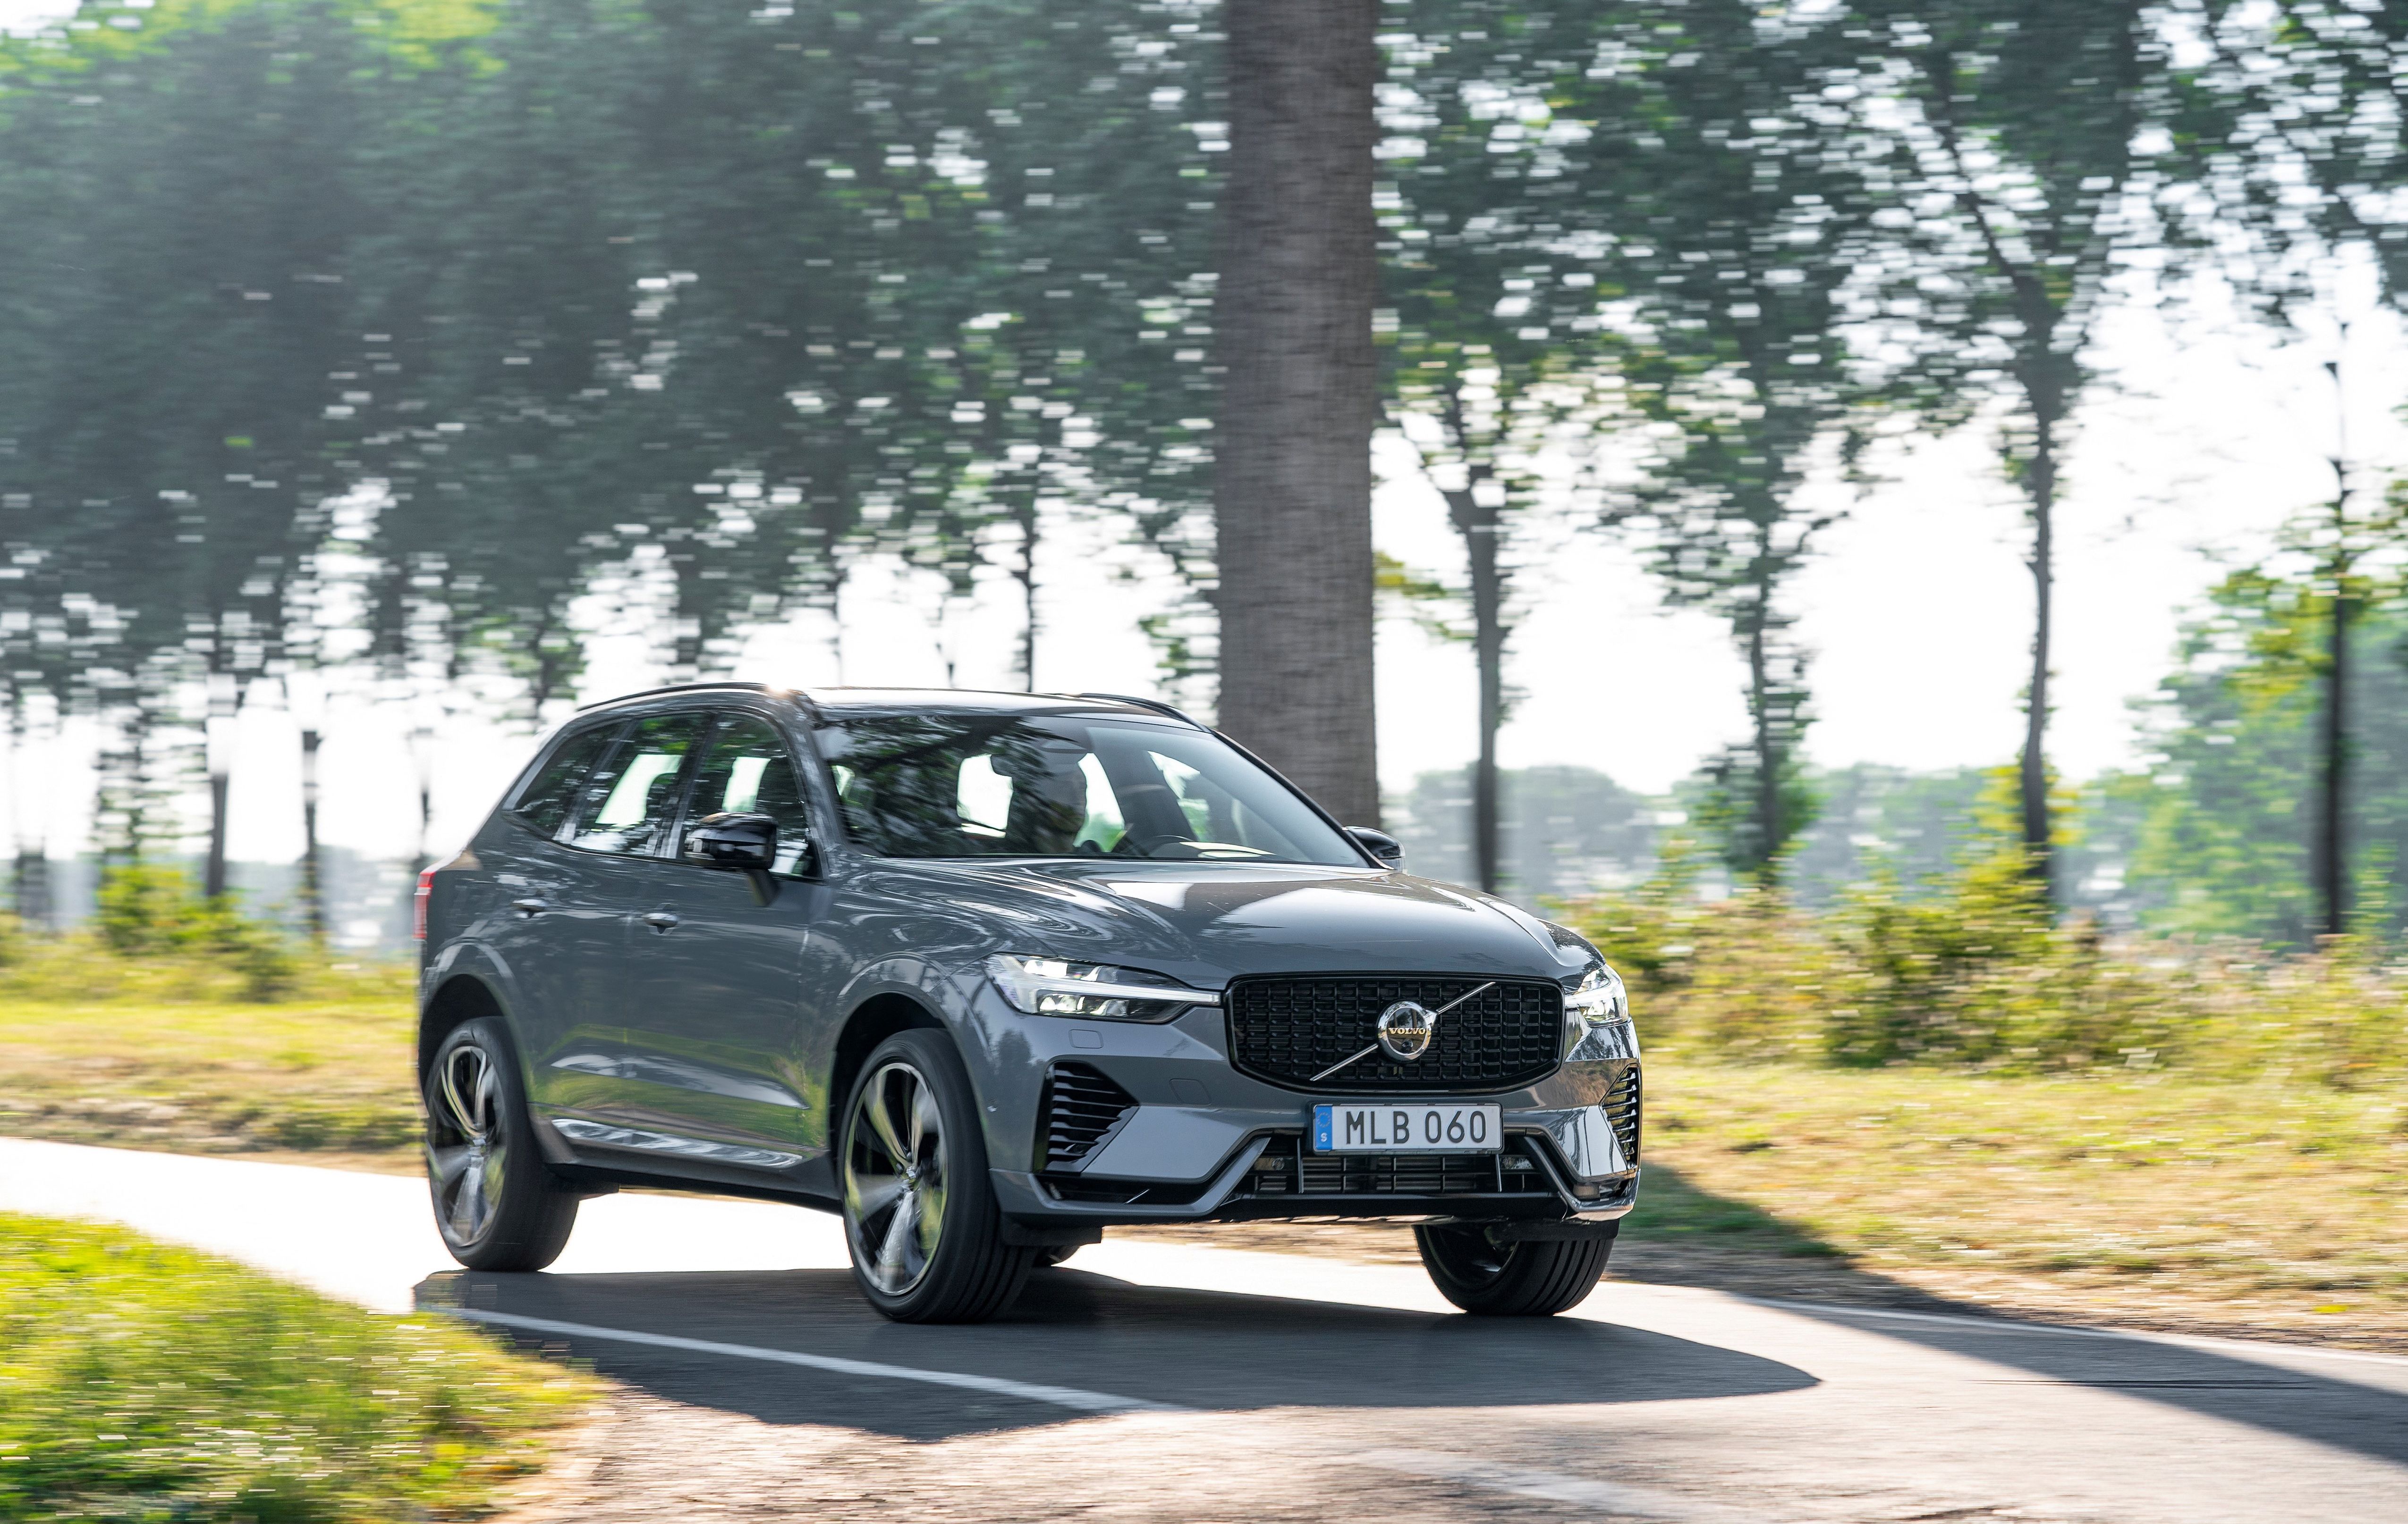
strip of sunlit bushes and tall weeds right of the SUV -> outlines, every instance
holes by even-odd
[[[1657,1045],[1741,1062],[1982,1071],[2191,1069],[2329,1086],[2408,1079],[2408,961],[2374,934],[2273,956],[2056,920],[2020,850],[1910,896],[1876,876],[1811,915],[1702,903],[1683,850],[1625,896],[1560,905],[1630,980]]]

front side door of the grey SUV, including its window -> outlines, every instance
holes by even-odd
[[[643,1074],[660,1127],[713,1144],[802,1156],[811,1103],[804,1083],[802,961],[826,908],[792,751],[761,715],[725,713],[694,775],[686,828],[710,814],[778,821],[773,898],[744,874],[691,862],[653,864],[633,920],[628,1064]],[[785,1158],[744,1160],[766,1168]]]

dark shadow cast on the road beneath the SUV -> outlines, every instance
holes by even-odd
[[[975,1327],[891,1324],[862,1303],[845,1271],[460,1271],[431,1276],[419,1300],[1214,1411],[1625,1404],[1813,1384],[1777,1360],[1589,1319],[1474,1319],[1168,1290],[1076,1269],[1038,1274],[1004,1317]],[[836,1423],[942,1440],[1076,1416],[1040,1401],[908,1380],[609,1339],[520,1336],[657,1396],[766,1423]]]

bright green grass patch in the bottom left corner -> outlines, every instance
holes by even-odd
[[[0,1213],[0,1519],[477,1519],[592,1392],[460,1327]]]

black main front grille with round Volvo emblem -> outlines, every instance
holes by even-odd
[[[1563,990],[1546,980],[1495,980],[1445,1011],[1430,1050],[1399,1064],[1382,1050],[1312,1079],[1370,1047],[1380,1011],[1409,999],[1438,1011],[1479,977],[1305,975],[1250,977],[1228,987],[1230,1062],[1296,1091],[1512,1091],[1563,1059]]]

